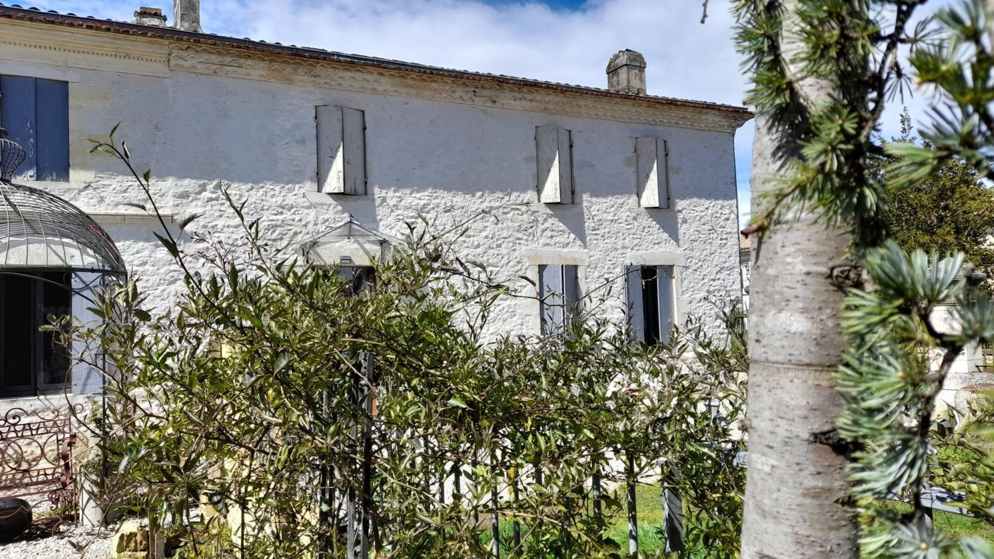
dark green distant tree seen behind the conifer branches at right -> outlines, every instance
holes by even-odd
[[[901,115],[901,136],[892,141],[918,141],[907,110]],[[928,141],[922,145],[934,150]],[[990,241],[994,234],[994,188],[981,182],[972,165],[956,157],[943,160],[920,181],[898,185],[888,179],[902,160],[902,156],[888,153],[873,169],[885,185],[885,219],[891,239],[909,252],[962,252],[978,271],[994,278],[994,243]]]

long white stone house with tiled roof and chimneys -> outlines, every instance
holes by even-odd
[[[317,240],[310,257],[353,266],[417,213],[503,208],[460,242],[466,259],[566,297],[621,281],[607,311],[632,308],[650,341],[709,316],[709,295],[740,292],[733,137],[745,108],[647,95],[630,51],[611,59],[608,89],[568,86],[210,35],[198,2],[176,4],[175,26],[144,8],[112,22],[0,5],[0,126],[29,151],[14,182],[88,213],[151,304],[169,303],[179,275],[156,224],[127,205],[143,202],[133,179],[86,141],[117,122],[168,218],[203,214],[192,227],[219,238],[240,235],[219,181],[267,238],[302,250]],[[361,233],[339,242],[350,218]],[[28,272],[60,267],[46,266]],[[15,291],[0,298],[26,296]],[[492,323],[522,333],[563,319],[523,298],[495,312]],[[3,331],[37,329],[36,315],[4,315]],[[8,390],[15,367],[42,374],[14,345],[2,349],[0,398],[53,391]]]

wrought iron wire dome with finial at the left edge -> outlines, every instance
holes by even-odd
[[[0,128],[0,269],[124,275],[114,242],[83,210],[44,190],[12,182],[26,153],[6,135]]]

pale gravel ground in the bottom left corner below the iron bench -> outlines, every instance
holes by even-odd
[[[0,543],[0,559],[105,559],[110,554],[111,535],[106,528],[69,523],[53,535],[50,527],[35,522],[19,538]]]

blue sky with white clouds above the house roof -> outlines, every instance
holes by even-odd
[[[27,3],[27,0],[25,0]],[[939,0],[938,4],[947,4]],[[130,20],[171,0],[35,0],[42,9]],[[477,72],[604,87],[621,49],[641,52],[649,93],[741,104],[745,78],[729,0],[201,0],[205,31]],[[912,116],[924,99],[910,101]],[[883,133],[899,128],[900,101]],[[740,217],[748,215],[752,123],[736,134]]]

